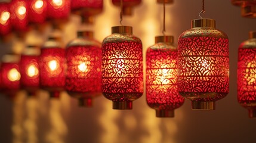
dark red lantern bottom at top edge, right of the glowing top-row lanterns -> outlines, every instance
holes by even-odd
[[[82,15],[85,23],[93,23],[93,17],[103,11],[103,0],[73,0],[71,9],[76,14]]]

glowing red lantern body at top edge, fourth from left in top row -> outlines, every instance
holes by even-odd
[[[47,17],[53,19],[68,18],[70,14],[70,0],[48,0]]]

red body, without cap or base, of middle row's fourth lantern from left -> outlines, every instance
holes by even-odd
[[[70,95],[94,97],[101,92],[101,48],[70,46],[66,49],[66,90]]]

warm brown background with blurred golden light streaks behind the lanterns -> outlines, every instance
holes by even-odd
[[[230,93],[216,104],[215,111],[190,110],[186,100],[175,110],[173,119],[159,119],[146,104],[146,97],[134,101],[133,110],[112,110],[112,102],[104,97],[94,101],[94,108],[79,108],[77,101],[63,93],[60,101],[49,101],[47,92],[27,99],[24,93],[14,102],[0,96],[0,142],[256,142],[256,120],[236,100],[236,61],[240,42],[248,39],[249,30],[256,30],[256,20],[240,17],[240,9],[226,0],[206,0],[204,18],[214,18],[217,29],[230,39]],[[190,29],[190,20],[199,18],[201,0],[176,0],[166,6],[166,30],[177,38]],[[75,38],[79,18],[72,16],[64,29],[66,43]],[[103,41],[111,26],[119,24],[119,9],[104,0],[104,12],[93,29],[95,38]],[[135,8],[133,17],[124,17],[123,24],[134,29],[141,38],[143,51],[162,32],[162,6],[156,0],[144,0]],[[44,35],[47,35],[46,29]],[[35,41],[30,32],[26,41]],[[40,41],[39,41],[40,42]],[[1,44],[1,54],[22,44]]]

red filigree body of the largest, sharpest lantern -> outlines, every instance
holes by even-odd
[[[178,39],[178,91],[196,101],[217,101],[229,93],[228,39]]]

